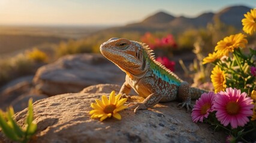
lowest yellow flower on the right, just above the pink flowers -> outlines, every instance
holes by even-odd
[[[212,75],[210,76],[212,80],[215,93],[219,91],[224,91],[227,88],[225,73],[218,66],[215,66],[212,70]]]

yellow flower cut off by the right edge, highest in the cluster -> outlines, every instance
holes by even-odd
[[[245,14],[245,18],[242,19],[243,31],[252,35],[256,31],[256,10],[251,10]]]

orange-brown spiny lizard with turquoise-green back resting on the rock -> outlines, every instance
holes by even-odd
[[[145,43],[125,38],[111,38],[100,46],[101,54],[126,73],[125,82],[119,94],[128,97],[131,88],[145,99],[131,102],[134,113],[147,109],[158,102],[182,100],[178,104],[187,111],[192,108],[191,99],[198,99],[205,91],[193,88],[172,71],[155,60],[153,50]]]

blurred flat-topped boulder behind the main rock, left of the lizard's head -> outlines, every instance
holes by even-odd
[[[99,83],[122,85],[124,80],[125,73],[101,54],[67,55],[38,69],[34,77],[35,88],[46,95],[79,92]]]

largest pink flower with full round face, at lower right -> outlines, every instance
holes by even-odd
[[[241,94],[236,88],[218,92],[213,103],[219,122],[224,126],[230,123],[232,128],[245,126],[249,122],[248,116],[252,116],[253,107],[251,98],[245,92]]]

